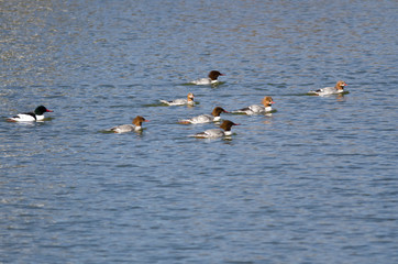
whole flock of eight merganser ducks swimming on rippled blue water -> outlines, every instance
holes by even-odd
[[[223,76],[218,70],[211,70],[207,78],[200,78],[197,80],[192,80],[190,84],[192,85],[215,85],[219,82],[218,78],[219,76]],[[344,92],[344,87],[346,84],[342,80],[339,80],[334,87],[325,87],[319,90],[311,90],[308,94],[309,95],[316,95],[316,96],[328,96],[328,95],[336,95]],[[194,106],[195,105],[195,96],[192,92],[189,92],[187,98],[185,99],[175,99],[172,101],[167,100],[159,100],[162,103],[167,106]],[[252,105],[239,110],[231,111],[231,113],[242,113],[242,114],[258,114],[258,113],[269,113],[273,111],[272,105],[274,103],[273,98],[269,96],[266,96],[262,100],[262,105]],[[33,112],[25,112],[25,113],[19,113],[12,118],[8,118],[7,120],[10,122],[35,122],[35,121],[43,121],[44,120],[44,113],[45,112],[53,112],[52,110],[46,109],[44,106],[37,107]],[[221,107],[215,107],[211,114],[200,114],[198,117],[189,118],[189,119],[183,119],[178,122],[181,124],[198,124],[198,123],[210,123],[210,122],[218,122],[220,121],[221,113],[229,113]],[[125,133],[125,132],[132,132],[132,131],[142,131],[142,123],[147,122],[145,118],[137,116],[133,119],[132,124],[122,124],[117,125],[111,129],[109,129],[109,132],[114,133]],[[206,130],[200,133],[196,133],[192,136],[195,138],[222,138],[231,135],[231,128],[233,125],[239,125],[239,123],[234,123],[230,120],[224,120],[220,129],[210,129]]]

